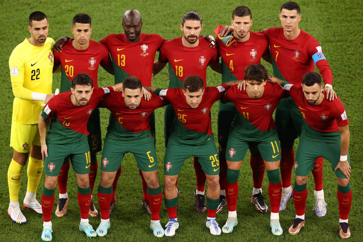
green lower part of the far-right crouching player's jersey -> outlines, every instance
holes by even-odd
[[[321,132],[310,127],[310,125],[303,119],[301,136],[308,140],[314,140],[325,143],[336,143],[340,141],[340,132]]]

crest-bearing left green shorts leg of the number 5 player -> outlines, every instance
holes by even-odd
[[[107,141],[106,138],[101,155],[101,171],[117,171],[120,168],[125,153],[127,153],[127,144],[113,143]]]

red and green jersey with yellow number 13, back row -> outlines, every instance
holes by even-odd
[[[101,44],[109,49],[115,71],[115,83],[126,77],[138,77],[144,86],[151,86],[156,51],[164,42],[158,34],[140,33],[140,41],[130,42],[124,33],[109,34]]]

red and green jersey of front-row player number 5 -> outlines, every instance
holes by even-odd
[[[99,107],[111,111],[107,139],[114,143],[146,142],[151,136],[149,115],[156,108],[167,104],[165,99],[152,94],[149,101],[142,100],[140,106],[132,110],[126,106],[122,93],[114,92],[106,95],[99,103]]]

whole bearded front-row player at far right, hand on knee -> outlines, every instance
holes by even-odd
[[[321,85],[321,76],[309,72],[302,78],[302,87],[274,78],[289,91],[291,98],[299,106],[303,121],[299,146],[295,157],[295,185],[293,200],[296,217],[289,229],[290,234],[299,233],[305,225],[307,198],[307,177],[318,157],[324,157],[332,164],[337,176],[339,203],[339,235],[349,238],[348,215],[352,205],[349,159],[349,121],[342,101],[335,98],[327,101],[327,92]]]

